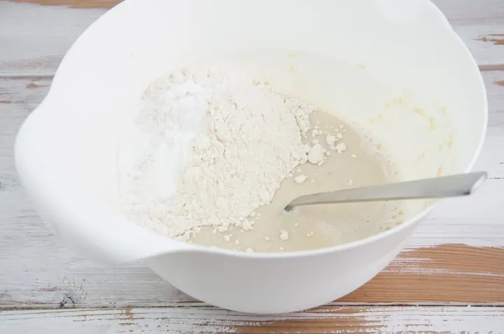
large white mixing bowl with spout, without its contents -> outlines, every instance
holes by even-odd
[[[278,57],[255,62],[264,53],[258,50]],[[288,71],[304,53],[325,61],[307,57]],[[127,0],[78,38],[23,124],[15,147],[22,182],[76,252],[143,260],[208,303],[281,313],[340,298],[392,261],[430,207],[372,238],[287,254],[188,245],[120,214],[117,119],[163,71],[231,54],[248,55],[244,66],[256,66],[282,92],[337,112],[393,147],[405,179],[462,173],[479,153],[487,115],[482,78],[429,1]]]

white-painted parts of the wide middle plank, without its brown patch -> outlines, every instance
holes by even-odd
[[[477,169],[489,170],[495,178],[472,198],[441,203],[421,224],[409,249],[445,243],[504,246],[504,87],[493,83],[504,80],[504,72],[486,72],[484,79],[490,128]],[[62,302],[81,307],[172,305],[191,300],[139,263],[106,268],[76,258],[36,215],[15,173],[12,148],[18,127],[47,94],[49,84],[48,79],[0,80],[0,307],[59,307]]]

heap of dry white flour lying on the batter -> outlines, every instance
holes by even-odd
[[[247,217],[272,201],[293,168],[323,163],[320,145],[302,142],[313,111],[219,69],[160,78],[132,110],[118,147],[127,217],[171,238],[202,226],[252,228]]]

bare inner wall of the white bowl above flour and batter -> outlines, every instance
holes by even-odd
[[[486,126],[479,71],[435,6],[403,2],[127,0],[62,61],[37,119],[40,163],[120,211],[127,110],[162,73],[232,64],[356,126],[402,179],[462,173]]]

